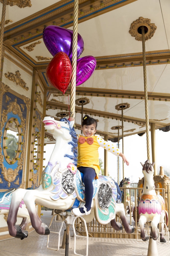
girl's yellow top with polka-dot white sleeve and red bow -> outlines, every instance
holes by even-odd
[[[77,136],[81,136],[80,134]],[[93,135],[91,136],[93,138],[93,144],[89,145],[86,141],[83,144],[80,144],[78,141],[78,161],[77,161],[77,167],[83,166],[83,167],[91,167],[95,169],[96,172],[96,179],[98,179],[98,174],[100,171],[99,166],[99,153],[98,148],[103,147],[107,151],[111,152],[112,154],[119,156],[121,153],[121,150],[115,146],[113,146],[112,142],[107,142],[101,138],[100,135]],[[84,137],[85,139],[90,137]]]

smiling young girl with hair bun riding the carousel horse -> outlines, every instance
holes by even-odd
[[[70,120],[73,121],[74,119],[70,118]],[[96,129],[96,120],[88,115],[85,115],[81,126],[84,136],[81,136],[80,134],[78,135],[77,169],[79,169],[81,173],[84,173],[86,203],[84,207],[74,208],[72,210],[73,214],[76,216],[90,214],[91,202],[93,198],[93,179],[95,177],[98,179],[98,174],[100,171],[98,153],[98,148],[100,146],[116,156],[121,156],[124,163],[129,165],[129,162],[124,154],[122,154],[119,148],[114,147],[111,141],[104,141],[100,135],[94,135],[94,133],[96,133]]]

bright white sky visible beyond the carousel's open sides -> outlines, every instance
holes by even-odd
[[[170,131],[163,132],[156,130],[156,155],[157,155],[157,168],[158,174],[160,166],[163,166],[164,170],[170,172]],[[54,149],[55,144],[47,144],[44,146],[44,161],[43,165],[47,165],[50,155]],[[116,146],[116,143],[114,144]],[[122,149],[122,140],[120,140],[120,149]],[[99,147],[99,158],[102,159],[104,164],[104,149]],[[140,162],[145,162],[147,160],[147,147],[146,147],[146,134],[142,137],[136,135],[131,135],[124,137],[124,155],[129,161],[129,166],[124,166],[124,175],[130,178],[131,183],[138,183],[139,177],[142,178],[142,166]],[[150,139],[150,156],[152,160],[152,150],[151,150],[151,139]],[[122,158],[120,157],[121,164]],[[110,176],[117,181],[117,157],[108,152],[108,173]],[[121,166],[121,179],[122,179],[122,166]]]

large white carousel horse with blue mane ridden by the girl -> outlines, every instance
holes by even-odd
[[[53,134],[56,144],[48,165],[42,173],[40,186],[30,191],[19,188],[12,195],[7,224],[10,235],[17,238],[22,236],[22,230],[15,225],[21,200],[27,206],[32,227],[42,235],[48,235],[49,229],[38,217],[35,202],[62,211],[85,204],[83,175],[76,167],[77,137],[73,121],[70,122],[66,118],[56,121],[53,117],[48,116],[44,118],[43,122],[45,129]],[[88,215],[87,222],[93,220],[95,216],[99,223],[107,224],[111,221],[115,230],[121,230],[121,223],[115,221],[115,214],[119,212],[125,231],[127,233],[134,232],[134,227],[127,222],[118,184],[109,177],[99,176],[98,179],[93,180],[93,187],[92,210]]]

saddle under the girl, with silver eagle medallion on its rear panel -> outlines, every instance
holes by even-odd
[[[75,175],[75,192],[77,198],[72,208],[79,207],[80,202],[85,202],[84,175],[77,170]],[[113,179],[99,175],[93,180],[94,214],[101,224],[107,224],[115,218],[116,201],[121,203],[121,191]]]

